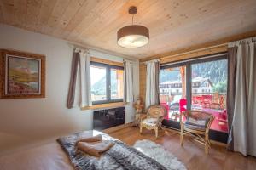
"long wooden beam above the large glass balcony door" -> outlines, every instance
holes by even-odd
[[[233,42],[233,41],[237,41],[237,40],[241,40],[247,37],[254,37],[256,36],[256,30],[255,31],[248,31],[242,34],[238,34],[235,36],[231,36],[231,37],[224,37],[222,39],[216,40],[216,41],[212,41],[212,42],[206,42],[206,43],[202,43],[200,45],[195,45],[189,48],[183,48],[183,49],[179,49],[176,51],[172,51],[169,53],[165,53],[165,54],[159,54],[156,56],[150,56],[144,59],[140,59],[140,62],[145,62],[151,59],[161,59],[161,58],[172,58],[173,55],[177,55],[177,54],[183,54],[183,53],[189,53],[191,51],[195,51],[195,50],[205,50],[206,48],[211,48],[212,46],[218,46],[220,44],[224,44],[226,45],[226,43],[228,42]]]

